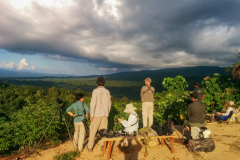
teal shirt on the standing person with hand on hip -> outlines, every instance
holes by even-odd
[[[75,103],[73,103],[70,107],[67,108],[66,112],[70,112],[72,110],[75,111],[75,114],[77,115],[83,115],[84,112],[83,112],[83,106],[82,106],[82,103],[81,101],[77,101]],[[85,109],[85,113],[89,113],[89,108],[87,106],[86,103],[83,103],[84,104],[84,109]],[[73,122],[82,122],[82,120],[85,118],[85,116],[76,116],[74,118],[74,121]]]

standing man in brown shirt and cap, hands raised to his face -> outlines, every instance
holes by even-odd
[[[144,81],[145,86],[142,87],[140,92],[143,127],[151,127],[153,124],[153,102],[155,89],[150,85],[152,81],[151,78],[146,78]]]

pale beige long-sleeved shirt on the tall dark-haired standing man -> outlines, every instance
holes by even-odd
[[[104,86],[98,86],[92,92],[92,99],[90,102],[90,116],[108,117],[110,109],[111,109],[110,92]]]

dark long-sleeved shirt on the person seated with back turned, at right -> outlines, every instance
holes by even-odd
[[[188,118],[191,123],[204,123],[207,107],[199,100],[188,105]]]

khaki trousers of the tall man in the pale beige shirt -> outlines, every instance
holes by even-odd
[[[94,145],[95,135],[98,130],[107,129],[108,126],[108,117],[94,117],[93,121],[90,124],[90,135],[88,140],[88,148],[92,149]],[[100,145],[103,146],[102,140]]]

